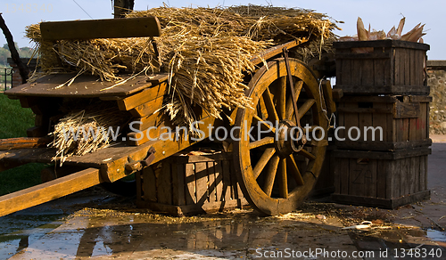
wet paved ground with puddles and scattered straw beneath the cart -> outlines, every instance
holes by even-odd
[[[0,259],[446,259],[446,136],[432,136],[430,200],[398,210],[307,201],[170,217],[100,188],[0,217]]]

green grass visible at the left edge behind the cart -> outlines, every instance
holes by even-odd
[[[18,100],[10,100],[0,93],[0,139],[26,136],[26,130],[34,126],[34,114],[22,109]],[[45,164],[28,164],[0,172],[0,195],[20,191],[37,185],[40,171]]]

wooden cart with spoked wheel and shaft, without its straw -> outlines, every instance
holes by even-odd
[[[41,24],[41,31],[46,40],[55,41],[157,37],[161,27],[159,21],[152,17],[45,22]],[[319,84],[307,65],[288,57],[287,51],[297,45],[296,41],[278,45],[252,59],[258,64],[258,69],[246,74],[245,83],[249,88],[245,94],[252,98],[254,109],[233,110],[230,114],[234,119],[232,123],[202,112],[199,116],[201,122],[197,125],[204,133],[202,139],[214,134],[208,131],[208,126],[223,126],[228,133],[232,131],[235,134],[235,139],[229,142],[233,147],[234,170],[241,190],[252,207],[266,215],[292,211],[313,188],[326,153],[326,110],[329,113],[335,110],[330,85]],[[36,126],[28,130],[28,138],[1,141],[1,171],[29,162],[51,163],[54,149],[45,146],[45,136],[49,127],[54,126],[53,118],[60,116],[64,100],[108,102],[119,110],[128,111],[128,117],[141,124],[111,147],[67,158],[61,169],[63,173],[63,168],[67,168],[64,176],[0,197],[0,215],[99,183],[119,183],[120,179],[199,142],[192,139],[177,141],[175,138],[173,141],[149,140],[143,132],[150,126],[157,126],[157,129],[171,126],[169,118],[157,112],[167,94],[169,75],[138,76],[112,88],[109,87],[112,83],[100,82],[97,77],[80,76],[69,86],[56,87],[71,77],[73,75],[50,75],[5,92],[12,99],[19,99],[22,107],[33,110]],[[245,138],[245,133],[249,133],[252,126],[260,126],[262,132],[252,131]],[[303,128],[305,126],[306,129]],[[298,128],[316,139],[296,140]],[[161,133],[151,132],[152,136],[155,134]],[[174,136],[176,133],[171,134]]]

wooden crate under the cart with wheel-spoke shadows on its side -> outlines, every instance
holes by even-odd
[[[232,154],[170,156],[136,175],[136,205],[169,215],[243,207],[248,202],[232,168]]]

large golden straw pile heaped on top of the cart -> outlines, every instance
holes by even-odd
[[[128,14],[142,16],[161,21],[161,37],[155,39],[161,61],[150,38],[59,41],[53,46],[42,41],[38,25],[27,28],[27,37],[40,47],[45,73],[85,70],[107,81],[119,80],[123,73],[175,73],[165,108],[174,123],[190,125],[197,105],[215,118],[220,118],[222,108],[250,107],[243,78],[255,69],[250,60],[257,53],[297,39],[307,42],[298,52],[305,59],[320,52],[322,45],[325,48],[336,28],[317,12],[255,5],[160,7]]]

